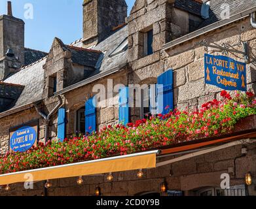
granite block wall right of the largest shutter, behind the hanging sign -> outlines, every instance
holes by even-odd
[[[162,54],[164,70],[174,70],[174,103],[178,108],[200,108],[203,103],[212,99],[220,99],[221,88],[205,84],[204,82],[204,46],[198,42],[208,40],[221,44],[223,42],[236,45],[241,40],[248,43],[249,61],[247,62],[247,89],[256,92],[256,29],[250,25],[249,18],[227,25],[221,29],[201,35],[196,39],[189,40],[170,48]],[[243,46],[235,46],[237,50],[243,50]],[[209,48],[209,50],[213,50]],[[211,52],[214,55],[223,55],[221,52]],[[227,56],[244,61],[241,54],[228,54]]]

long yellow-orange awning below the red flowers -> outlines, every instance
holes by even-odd
[[[20,172],[2,174],[0,175],[0,185],[28,182],[28,180],[24,178],[26,174],[32,174],[33,182],[39,182],[42,180],[71,178],[75,176],[90,176],[93,174],[102,174],[107,172],[151,169],[156,167],[156,155],[160,152],[160,150],[153,150],[149,152],[139,152],[132,153],[130,155],[120,155],[103,159],[95,159],[92,161],[58,165],[55,167],[45,167],[42,169],[24,170]],[[149,159],[149,161],[147,161],[147,159]],[[123,162],[126,162],[127,165]],[[117,167],[115,167],[115,164],[117,165]],[[94,170],[93,165],[100,165],[96,166],[95,170],[103,170],[104,172],[92,173],[92,170]]]

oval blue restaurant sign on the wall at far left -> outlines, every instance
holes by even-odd
[[[12,152],[26,152],[37,140],[37,131],[33,127],[25,126],[14,131],[10,137]]]

